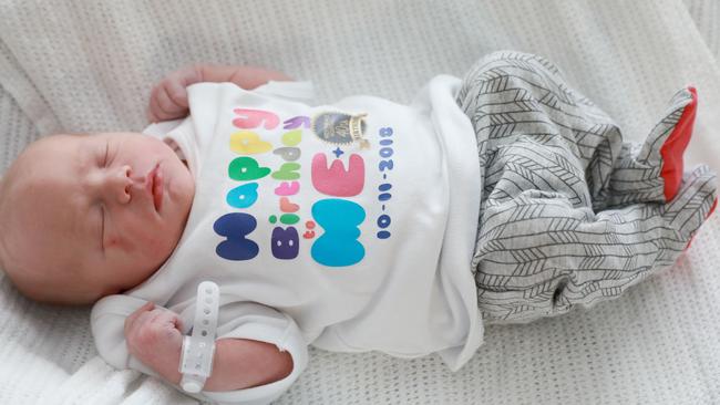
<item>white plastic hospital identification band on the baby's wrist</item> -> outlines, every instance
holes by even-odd
[[[216,283],[203,281],[197,285],[193,333],[183,339],[179,363],[181,387],[188,393],[199,393],[213,372],[219,301],[220,289]]]

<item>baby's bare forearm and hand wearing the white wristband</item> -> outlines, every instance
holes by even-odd
[[[172,311],[141,307],[125,320],[127,350],[143,364],[169,383],[179,384],[178,371],[183,345],[182,325]],[[235,391],[285,378],[292,371],[292,359],[274,344],[245,339],[216,342],[213,373],[205,391]]]

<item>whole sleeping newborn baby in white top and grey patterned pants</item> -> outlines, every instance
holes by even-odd
[[[457,370],[483,324],[588,308],[672,264],[714,207],[714,175],[683,176],[692,87],[635,145],[531,54],[436,76],[410,105],[311,105],[285,79],[181,70],[145,134],[30,145],[1,185],[2,268],[30,298],[94,303],[112,365],[267,403],[310,344]]]

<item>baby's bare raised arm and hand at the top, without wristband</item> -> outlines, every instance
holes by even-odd
[[[199,82],[232,82],[247,90],[269,81],[288,81],[290,77],[276,71],[253,66],[196,64],[168,74],[153,87],[147,108],[152,123],[182,118],[187,115],[185,87]]]

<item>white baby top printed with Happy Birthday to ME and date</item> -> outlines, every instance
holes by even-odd
[[[130,356],[125,318],[154,301],[188,334],[197,284],[209,280],[220,288],[218,339],[274,343],[294,370],[198,398],[270,402],[306,367],[309,344],[439,352],[453,371],[462,366],[483,326],[470,266],[480,168],[455,103],[460,83],[436,76],[410,106],[371,96],[310,106],[297,101],[311,90],[304,82],[189,86],[191,116],[160,134],[179,146],[196,181],[187,226],[148,280],[95,304],[100,354],[154,375]]]

